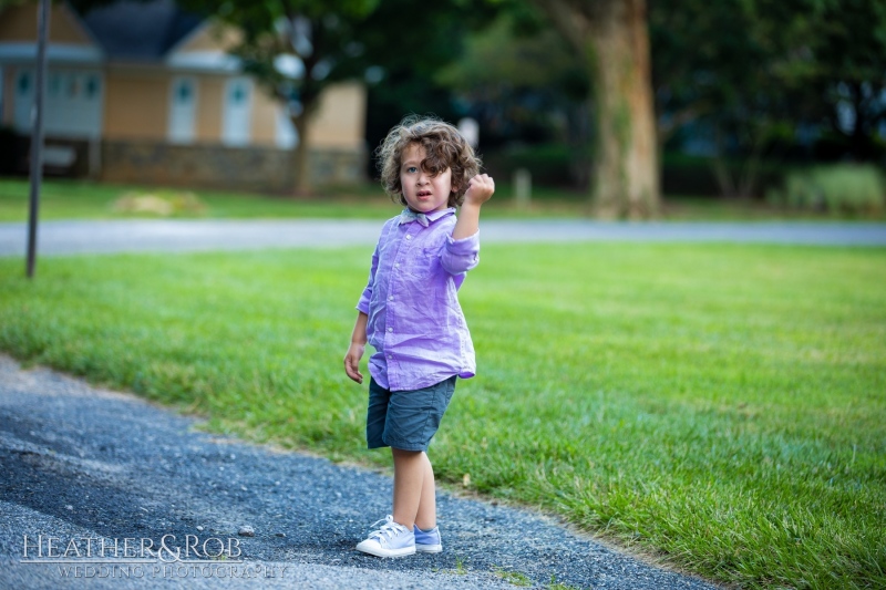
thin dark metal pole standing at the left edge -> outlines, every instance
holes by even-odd
[[[49,41],[50,0],[40,0],[37,11],[37,81],[34,83],[33,131],[31,132],[31,198],[28,215],[28,278],[34,276],[37,263],[37,219],[40,205],[40,180],[43,178],[43,81],[47,77],[47,43]]]

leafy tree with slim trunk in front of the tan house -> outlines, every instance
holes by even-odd
[[[234,53],[243,59],[246,71],[293,106],[290,114],[301,138],[293,156],[299,193],[310,188],[308,121],[328,84],[363,79],[370,86],[370,102],[387,94],[391,111],[435,110],[449,95],[433,87],[433,72],[455,59],[465,31],[482,25],[494,11],[490,4],[468,0],[441,0],[421,8],[408,0],[177,1],[238,27],[244,35]],[[300,61],[300,77],[286,75],[281,55]],[[383,122],[387,131],[405,112],[392,120],[371,111],[369,125]]]

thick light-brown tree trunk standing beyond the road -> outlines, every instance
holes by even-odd
[[[646,0],[538,0],[587,59],[596,141],[598,216],[646,218],[660,206]]]

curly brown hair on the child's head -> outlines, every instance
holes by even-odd
[[[464,201],[467,182],[480,173],[482,162],[471,144],[453,125],[431,116],[409,115],[394,126],[375,149],[381,185],[391,200],[403,206],[400,165],[403,151],[412,144],[424,147],[422,169],[431,176],[452,169],[452,193],[447,206]]]

